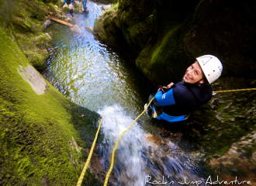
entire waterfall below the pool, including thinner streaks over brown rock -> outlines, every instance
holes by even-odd
[[[102,150],[104,152],[103,159],[106,160],[103,164],[109,170],[116,140],[134,119],[119,105],[106,106],[99,110],[99,114],[103,116],[104,140]],[[127,186],[154,185],[149,183],[153,181],[167,182],[167,184],[156,185],[180,185],[184,183],[185,179],[187,183],[188,181],[198,181],[198,184],[203,182],[200,177],[189,171],[187,168],[188,160],[182,163],[177,157],[175,158],[176,154],[172,157],[157,147],[152,150],[151,146],[154,144],[147,140],[144,130],[135,122],[119,141],[111,174],[111,177],[114,178],[110,181],[115,185]],[[152,177],[150,181],[148,181],[149,176]],[[145,184],[146,180],[148,181],[147,184]]]

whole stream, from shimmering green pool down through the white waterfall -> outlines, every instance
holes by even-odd
[[[42,74],[67,98],[104,117],[102,164],[108,170],[117,137],[143,112],[152,85],[125,53],[99,43],[85,30],[85,26],[93,26],[94,20],[102,14],[99,6],[92,2],[88,2],[88,9],[88,17],[74,16],[75,24],[82,29],[81,35],[71,33],[67,26],[59,23],[53,23],[47,30],[53,35],[56,47]],[[150,122],[146,115],[142,120]],[[181,184],[185,178],[203,182],[191,157],[171,141],[168,150],[166,153],[147,140],[136,122],[119,142],[112,182],[131,186],[152,185],[153,181],[161,185],[163,179],[166,185]]]

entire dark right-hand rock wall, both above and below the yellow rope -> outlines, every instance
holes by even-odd
[[[254,88],[255,6],[230,0],[120,0],[117,9],[95,20],[94,32],[106,43],[125,40],[123,45],[135,53],[137,67],[155,86],[179,81],[195,57],[213,54],[223,63],[223,75],[213,84],[214,91]],[[185,141],[180,146],[184,150],[194,146],[192,150],[214,157],[209,165],[219,171],[226,167],[223,174],[255,175],[255,113],[252,91],[213,96],[182,129],[178,127]],[[146,128],[161,131],[169,125],[157,122],[157,127]],[[244,161],[232,157],[232,152]]]

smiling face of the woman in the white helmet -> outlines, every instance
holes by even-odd
[[[197,81],[199,81],[199,83],[203,83],[202,77],[203,77],[202,69],[199,66],[199,64],[195,62],[194,64],[192,64],[190,67],[187,68],[187,70],[185,71],[183,80],[190,84],[194,84]]]

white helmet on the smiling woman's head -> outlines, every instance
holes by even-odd
[[[209,84],[220,77],[223,67],[217,57],[213,55],[204,55],[202,57],[197,57],[196,60],[199,62]]]

